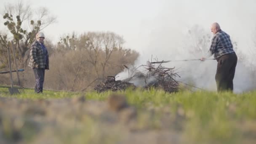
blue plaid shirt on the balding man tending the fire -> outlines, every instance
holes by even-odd
[[[228,53],[235,53],[233,50],[233,45],[229,35],[220,30],[212,38],[211,47],[208,51],[208,57],[214,54],[214,58],[218,58]]]

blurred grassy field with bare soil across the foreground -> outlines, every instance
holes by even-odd
[[[126,110],[109,109],[113,92],[35,94],[25,89],[10,96],[7,88],[0,88],[0,140],[21,144],[256,143],[256,91],[138,89],[115,94],[125,97]],[[16,121],[22,124],[15,126]]]

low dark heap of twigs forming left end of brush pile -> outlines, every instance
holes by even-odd
[[[128,83],[122,80],[115,80],[115,77],[108,76],[105,80],[103,80],[99,85],[94,87],[94,90],[97,92],[104,92],[104,91],[117,91],[117,90],[125,90],[126,88],[135,86],[132,83]]]

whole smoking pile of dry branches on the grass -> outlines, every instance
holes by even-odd
[[[130,74],[131,71],[131,74]],[[94,90],[104,92],[108,90],[117,91],[126,88],[142,87],[142,88],[163,88],[166,92],[176,92],[179,90],[179,83],[175,77],[179,77],[174,72],[174,68],[163,67],[162,63],[157,65],[147,61],[147,65],[141,65],[135,69],[128,69],[129,78],[125,80],[115,80],[115,77],[109,76],[101,84],[96,85]]]

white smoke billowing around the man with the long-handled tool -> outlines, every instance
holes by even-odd
[[[218,22],[231,37],[239,56],[234,78],[234,92],[241,93],[253,88],[256,77],[255,0],[160,0],[163,6],[154,19],[143,21],[141,26],[142,49],[136,66],[151,58],[162,60],[199,59],[208,50],[212,34],[210,26]],[[202,41],[203,40],[203,41]],[[152,59],[155,61],[155,59]],[[164,67],[176,67],[181,76],[178,80],[194,86],[216,91],[216,60],[170,62]],[[254,69],[255,70],[255,69]],[[128,77],[127,71],[117,75]],[[140,83],[140,82],[136,82]],[[255,88],[255,87],[254,87]]]

